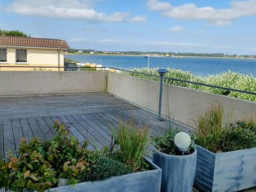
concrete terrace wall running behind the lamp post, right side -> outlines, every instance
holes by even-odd
[[[158,112],[158,82],[109,72],[108,92]],[[223,105],[226,118],[232,114],[230,120],[241,120],[252,116],[256,118],[255,102],[163,84],[162,114],[168,116],[169,109],[172,113],[170,116],[174,116],[175,120],[184,124],[195,127],[196,115],[214,102]]]

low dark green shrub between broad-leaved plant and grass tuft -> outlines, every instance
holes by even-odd
[[[110,157],[101,157],[94,164],[92,172],[83,175],[83,180],[105,180],[129,173],[132,173],[132,170],[124,163]]]

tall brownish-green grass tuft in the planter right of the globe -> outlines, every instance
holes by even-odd
[[[223,107],[221,104],[211,104],[202,115],[197,116],[195,134],[196,143],[211,152],[220,150],[223,127]]]

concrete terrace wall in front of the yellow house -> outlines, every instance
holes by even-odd
[[[106,92],[106,72],[0,72],[0,97]]]

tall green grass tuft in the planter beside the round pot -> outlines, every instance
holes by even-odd
[[[115,157],[117,156],[133,172],[141,170],[145,165],[143,158],[148,154],[147,147],[150,143],[148,132],[147,127],[136,127],[132,117],[127,122],[122,122],[118,118],[116,129],[112,127],[115,145],[119,147]]]

